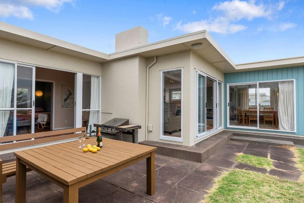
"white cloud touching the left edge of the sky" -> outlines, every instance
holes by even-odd
[[[12,4],[0,4],[0,16],[33,19],[33,13],[27,7]]]

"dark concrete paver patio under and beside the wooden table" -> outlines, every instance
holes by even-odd
[[[268,157],[275,169],[267,171],[235,161],[235,153]],[[297,181],[301,172],[293,153],[284,148],[229,141],[204,163],[155,156],[155,194],[146,194],[146,161],[102,178],[79,189],[79,202],[199,202],[224,171],[245,169]],[[63,190],[36,172],[27,174],[27,202],[62,202]],[[15,202],[15,177],[3,184],[3,202]]]

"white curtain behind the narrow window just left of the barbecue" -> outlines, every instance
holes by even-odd
[[[100,109],[100,81],[99,76],[91,76],[91,101],[90,109]],[[92,125],[92,131],[96,132],[96,128],[93,127],[94,123],[98,123],[100,118],[100,111],[90,111],[88,130],[90,132],[90,125]]]

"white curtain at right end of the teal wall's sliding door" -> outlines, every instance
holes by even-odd
[[[278,121],[280,130],[294,130],[293,81],[279,82]]]

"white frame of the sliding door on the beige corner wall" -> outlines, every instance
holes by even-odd
[[[205,110],[205,132],[202,132],[202,133],[198,133],[198,77],[199,77],[199,74],[204,76],[205,77],[205,88],[206,88],[206,79],[207,77],[211,78],[212,80],[215,81],[216,83],[216,87],[213,87],[213,91],[216,92],[216,94],[213,96],[213,109],[214,109],[214,112],[213,112],[213,126],[216,126],[215,128],[211,129],[211,130],[208,130],[206,131],[206,121],[207,121],[207,114],[206,114],[206,110]],[[203,139],[203,138],[207,138],[209,137],[210,134],[214,133],[214,132],[217,132],[219,131],[220,129],[223,129],[223,115],[220,116],[221,119],[222,119],[222,126],[221,127],[218,127],[218,83],[222,83],[222,89],[223,89],[223,82],[219,81],[218,79],[208,75],[208,74],[205,74],[203,73],[202,71],[199,71],[197,69],[195,69],[195,135],[194,135],[194,139],[195,139],[195,142],[197,140],[200,140],[200,139]],[[216,101],[214,100],[214,98],[216,98]],[[205,102],[206,102],[206,89],[205,89]],[[222,108],[223,108],[223,90],[222,90]],[[205,106],[205,109],[206,109],[206,106]],[[222,113],[224,112],[224,110],[222,110]],[[215,117],[215,118],[214,118]],[[215,119],[215,120],[214,120]]]

